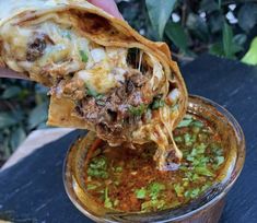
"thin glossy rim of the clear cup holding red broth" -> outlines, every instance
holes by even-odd
[[[191,102],[192,101],[192,102]],[[211,101],[211,99],[208,99],[206,97],[202,97],[202,96],[198,96],[198,95],[189,95],[189,99],[188,99],[188,104],[190,103],[195,103],[196,102],[198,104],[205,104],[205,105],[208,105],[208,106],[211,106],[213,108],[215,108],[220,114],[222,114],[222,116],[227,120],[227,122],[232,126],[233,130],[237,133],[237,137],[240,138],[240,146],[237,148],[237,157],[236,157],[236,161],[235,161],[235,164],[234,164],[234,167],[233,167],[233,171],[232,172],[235,172],[236,171],[236,175],[233,176],[233,178],[225,185],[225,187],[222,189],[222,191],[220,191],[218,195],[215,195],[213,198],[211,198],[209,201],[207,201],[205,204],[189,211],[189,212],[186,212],[184,214],[180,214],[180,215],[176,215],[176,216],[171,216],[170,219],[166,219],[166,220],[161,220],[161,221],[156,221],[156,222],[171,222],[171,221],[182,221],[184,219],[187,219],[191,215],[194,215],[195,213],[197,212],[200,212],[202,211],[203,209],[206,209],[207,207],[218,202],[219,200],[221,200],[227,192],[229,190],[232,188],[232,186],[235,184],[236,179],[238,178],[238,176],[241,175],[241,172],[243,169],[243,166],[244,166],[244,162],[245,162],[245,137],[244,137],[244,132],[240,126],[240,124],[237,122],[237,120],[233,117],[233,115],[226,109],[224,108],[223,106],[219,105],[218,103]],[[86,209],[84,209],[79,199],[77,198],[77,195],[74,191],[71,190],[72,187],[69,187],[69,180],[68,180],[68,175],[69,173],[67,173],[67,169],[68,169],[68,159],[69,159],[69,154],[71,153],[71,150],[72,150],[72,146],[73,143],[71,144],[70,149],[68,150],[67,152],[67,155],[66,155],[66,159],[65,159],[65,162],[63,162],[63,168],[62,168],[62,180],[63,180],[63,185],[65,185],[65,190],[69,197],[69,199],[71,200],[71,202],[87,218],[92,219],[92,220],[95,220],[95,221],[102,221],[102,222],[117,222],[117,221],[114,221],[114,220],[110,220],[110,219],[106,219],[105,216],[104,218],[100,218],[100,216],[96,216],[94,214],[92,214],[90,211],[87,211]],[[241,151],[241,154],[238,155],[238,150]],[[240,164],[240,165],[238,165]],[[156,211],[156,212],[150,212],[150,213],[135,213],[135,212],[131,212],[131,213],[124,213],[126,214],[126,216],[132,216],[132,215],[138,215],[138,216],[147,216],[147,215],[154,215],[154,216],[157,216],[157,215],[161,215],[163,214],[163,212],[167,212],[168,210],[171,209],[166,209],[166,210],[163,210],[163,211]],[[116,214],[116,213],[114,213]]]

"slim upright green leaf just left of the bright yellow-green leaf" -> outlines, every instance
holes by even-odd
[[[222,43],[223,43],[223,49],[224,55],[227,58],[233,58],[233,31],[232,27],[224,23],[223,30],[222,30]]]

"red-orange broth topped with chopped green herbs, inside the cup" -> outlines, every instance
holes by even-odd
[[[174,131],[183,161],[161,172],[154,143],[110,148],[96,139],[85,157],[86,191],[98,206],[125,212],[152,212],[189,202],[219,181],[226,159],[221,137],[208,121],[187,115]]]

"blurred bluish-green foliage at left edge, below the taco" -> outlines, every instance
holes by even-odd
[[[0,79],[0,166],[30,131],[46,127],[47,107],[47,89]]]

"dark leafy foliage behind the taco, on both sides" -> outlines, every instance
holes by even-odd
[[[165,40],[179,63],[209,52],[257,64],[257,1],[118,0],[140,34]],[[35,129],[47,128],[47,89],[0,79],[0,165]]]

